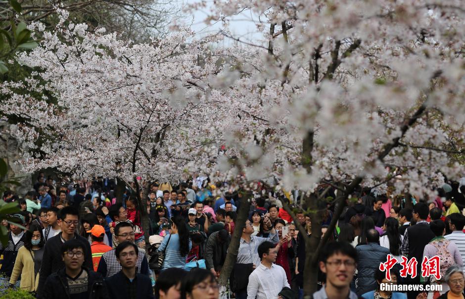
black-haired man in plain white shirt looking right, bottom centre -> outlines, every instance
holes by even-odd
[[[261,262],[249,276],[247,299],[278,298],[282,288],[290,288],[284,269],[273,263],[277,254],[273,243],[267,241],[260,244],[258,255]]]

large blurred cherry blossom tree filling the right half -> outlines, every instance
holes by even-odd
[[[319,252],[357,188],[432,200],[443,175],[464,174],[465,10],[458,0],[229,0],[216,1],[209,20],[228,25],[244,10],[258,16],[265,39],[223,32],[237,46],[224,51],[231,63],[209,87],[216,108],[234,113],[214,124],[226,146],[217,165],[243,185],[301,191],[312,220],[310,295]],[[321,240],[329,189],[337,208]],[[233,238],[222,284],[237,247]]]

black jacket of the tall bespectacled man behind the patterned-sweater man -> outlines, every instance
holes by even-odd
[[[92,264],[92,251],[89,240],[76,234],[76,240],[82,242],[84,246],[84,264],[83,266],[88,269],[93,269]],[[47,277],[65,267],[65,264],[61,258],[61,233],[50,238],[45,243],[44,257],[42,258],[41,271],[39,276],[39,286],[37,288],[37,294],[41,294],[42,289],[45,285]]]

